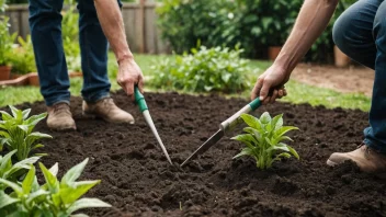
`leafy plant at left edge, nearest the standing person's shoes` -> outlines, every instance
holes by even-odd
[[[42,144],[36,144],[38,139],[52,138],[47,134],[33,132],[36,124],[47,116],[47,113],[39,115],[33,115],[29,117],[31,108],[21,111],[14,106],[9,106],[12,115],[4,111],[0,111],[2,114],[2,121],[0,121],[0,150],[3,145],[7,148],[16,151],[16,158],[24,160],[29,157],[31,150],[44,147]],[[42,156],[44,153],[37,153]]]

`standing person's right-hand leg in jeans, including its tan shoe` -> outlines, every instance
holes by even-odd
[[[118,0],[120,7],[122,7]],[[79,43],[83,71],[83,114],[113,123],[130,123],[134,118],[118,108],[110,98],[107,77],[107,39],[99,23],[93,0],[78,0]]]

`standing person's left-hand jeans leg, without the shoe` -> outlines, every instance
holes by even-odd
[[[41,92],[47,106],[69,103],[69,79],[61,42],[63,0],[30,0],[30,28]]]

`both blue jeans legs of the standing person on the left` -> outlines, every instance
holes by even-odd
[[[120,2],[120,1],[118,1]],[[30,0],[30,28],[41,92],[48,106],[69,103],[69,77],[61,39],[64,0]],[[120,2],[121,5],[121,2]],[[107,39],[99,23],[93,0],[79,0],[79,44],[87,102],[110,95]]]

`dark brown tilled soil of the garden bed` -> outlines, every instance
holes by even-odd
[[[264,106],[254,114],[284,113],[286,125],[300,128],[291,134],[300,161],[290,159],[259,171],[249,158],[231,159],[242,146],[229,135],[181,169],[168,163],[123,92],[114,99],[135,116],[135,125],[84,119],[81,100],[73,98],[78,130],[50,132],[55,139],[45,141],[49,156],[43,162],[47,167],[59,162],[59,175],[90,158],[80,180],[102,182],[88,196],[114,206],[92,209],[91,216],[386,216],[385,181],[360,173],[352,163],[334,169],[326,165],[333,151],[360,145],[367,126],[364,112],[287,103]],[[146,99],[175,165],[247,103],[177,93],[146,93]],[[45,111],[42,102],[19,107]],[[49,133],[44,123],[37,130]]]

